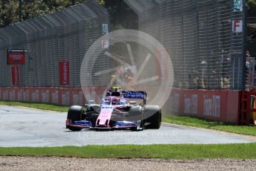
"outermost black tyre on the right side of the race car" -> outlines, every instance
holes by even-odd
[[[161,109],[159,106],[145,106],[144,119],[148,129],[159,129],[161,126]]]

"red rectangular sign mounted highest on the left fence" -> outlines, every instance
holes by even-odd
[[[25,52],[7,51],[7,65],[25,65]]]

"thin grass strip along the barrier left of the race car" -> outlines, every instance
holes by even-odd
[[[68,112],[67,106],[56,106],[56,105],[49,105],[49,104],[44,104],[44,103],[23,103],[23,102],[0,101],[0,105],[25,106],[25,107],[29,107],[29,108],[35,108],[35,109],[52,110],[52,111],[57,111],[57,112]]]

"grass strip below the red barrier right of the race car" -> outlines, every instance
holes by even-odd
[[[202,120],[196,117],[182,117],[171,114],[164,115],[163,121],[166,123],[176,123],[185,126],[195,126],[205,129],[215,129],[225,132],[256,136],[256,126],[236,126],[223,122]]]

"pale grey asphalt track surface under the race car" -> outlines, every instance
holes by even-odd
[[[162,124],[142,132],[65,129],[66,114],[0,106],[0,146],[84,146],[89,144],[251,143],[256,138],[189,126]]]

